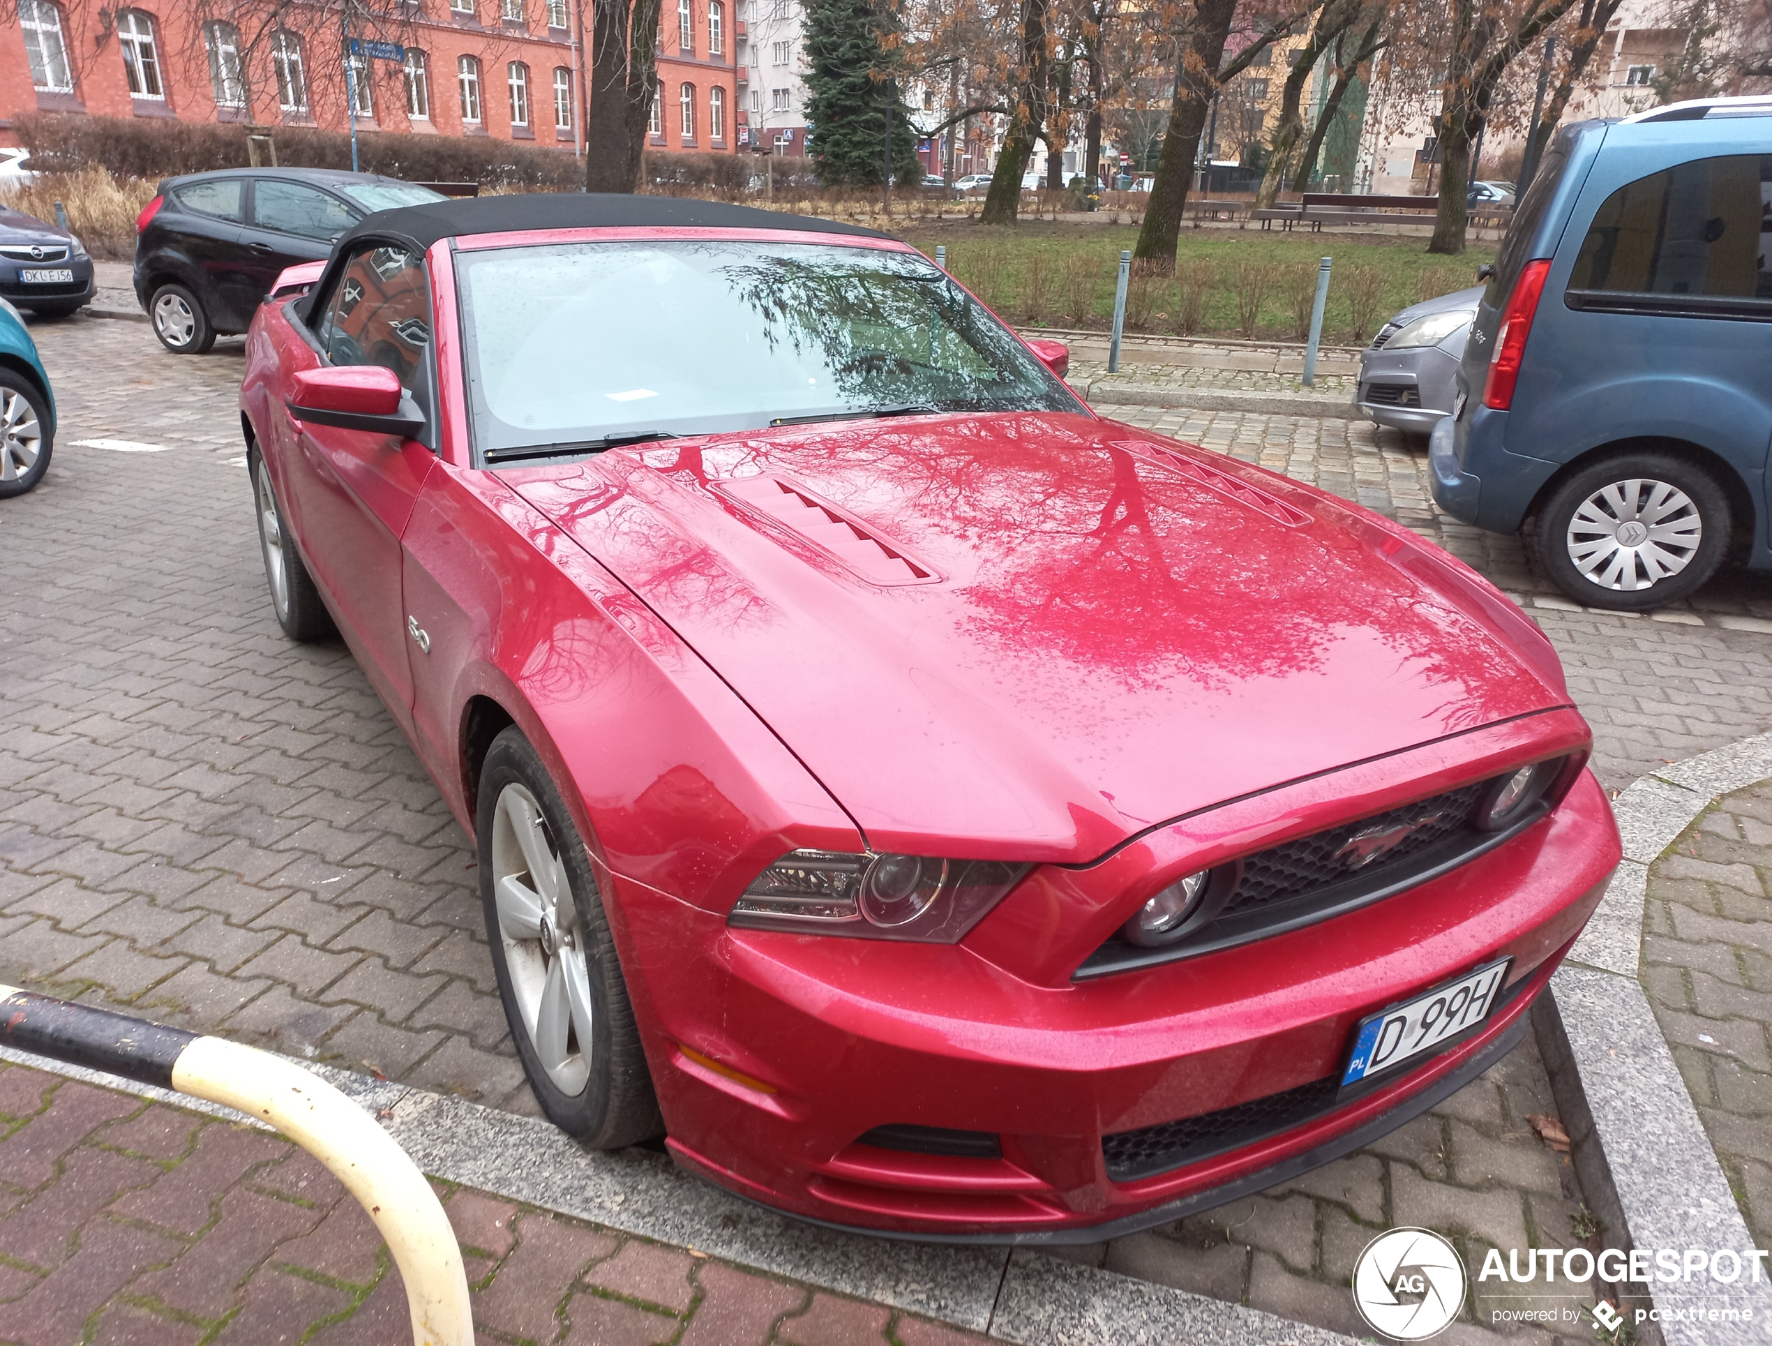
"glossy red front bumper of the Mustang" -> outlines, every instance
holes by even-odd
[[[1618,837],[1582,773],[1462,869],[1310,929],[1092,982],[1037,986],[962,945],[734,931],[613,878],[672,1154],[792,1215],[893,1236],[1084,1243],[1180,1218],[1347,1153],[1487,1069],[1598,904]],[[971,940],[969,940],[971,942]],[[1338,1075],[1356,1023],[1497,956],[1476,1036],[1271,1135],[1138,1181],[1102,1137]],[[989,1133],[1001,1156],[861,1144]]]

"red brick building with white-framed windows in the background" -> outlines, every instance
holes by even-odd
[[[360,46],[347,76],[344,12],[328,0],[117,9],[14,0],[0,4],[0,144],[14,144],[12,119],[35,110],[342,131],[354,99],[363,131],[486,135],[571,151],[585,115],[585,53],[574,43],[581,4],[397,0],[383,7],[397,18],[361,39],[395,43],[404,60]],[[737,0],[664,0],[654,147],[737,147],[741,34]]]

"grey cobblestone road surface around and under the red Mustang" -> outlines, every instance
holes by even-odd
[[[239,342],[181,358],[136,323],[35,335],[64,424],[0,534],[9,560],[28,559],[0,567],[0,981],[533,1112],[466,839],[349,653],[291,646],[269,617]],[[1563,610],[1513,539],[1434,514],[1402,436],[1104,410],[1340,491],[1550,603],[1529,610],[1568,663],[1609,786],[1772,725],[1772,640],[1719,624],[1772,615],[1765,580],[1722,580],[1676,621]],[[101,438],[156,450],[80,447]],[[1524,1124],[1550,1110],[1527,1045],[1382,1146],[1083,1256],[1350,1326],[1348,1247],[1393,1220],[1473,1247],[1579,1233],[1570,1170]],[[1474,1319],[1458,1330],[1488,1339]]]

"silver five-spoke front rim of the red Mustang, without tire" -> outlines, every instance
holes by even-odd
[[[493,904],[517,1013],[553,1085],[590,1080],[590,975],[560,848],[535,796],[512,782],[493,814]]]

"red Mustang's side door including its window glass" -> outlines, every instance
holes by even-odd
[[[420,254],[363,243],[331,293],[315,296],[314,312],[314,364],[393,369],[413,401],[431,406],[431,289]],[[285,415],[303,555],[363,672],[411,732],[400,536],[436,454],[418,440]]]

